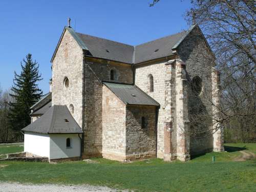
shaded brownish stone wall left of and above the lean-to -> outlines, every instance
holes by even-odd
[[[116,82],[132,83],[131,65],[116,65],[103,59],[86,58],[86,93],[84,109],[83,158],[102,155],[102,81],[110,80],[110,70],[115,70]]]

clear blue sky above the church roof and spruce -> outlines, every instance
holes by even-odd
[[[14,71],[31,53],[44,80],[39,88],[47,93],[51,78],[50,59],[63,27],[70,17],[75,31],[129,45],[138,45],[188,29],[183,15],[190,0],[1,0],[0,86],[12,86]]]

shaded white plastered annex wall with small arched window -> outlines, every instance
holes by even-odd
[[[71,140],[71,147],[66,147],[67,138]],[[50,159],[60,159],[80,156],[80,138],[78,134],[50,135]]]

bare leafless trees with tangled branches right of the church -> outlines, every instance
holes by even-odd
[[[162,1],[152,0],[150,6]],[[201,135],[204,124],[208,126],[214,120],[223,128],[225,142],[256,142],[256,3],[191,0],[190,4],[185,19],[189,25],[200,26],[216,56],[216,68],[221,72],[221,100],[218,106],[210,101],[218,108],[218,114],[209,116],[198,109],[200,113],[190,118],[190,122],[191,126],[201,126],[190,129],[192,133],[188,134]],[[212,131],[218,130],[209,130]]]

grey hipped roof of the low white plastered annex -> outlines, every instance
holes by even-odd
[[[70,114],[66,105],[53,105],[40,118],[26,126],[22,131],[45,134],[82,133],[81,127]]]

